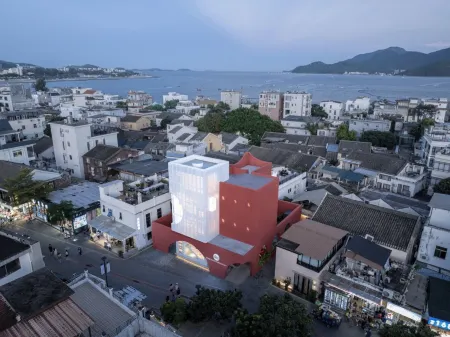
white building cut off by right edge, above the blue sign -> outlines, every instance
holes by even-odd
[[[430,216],[422,232],[417,261],[434,272],[450,276],[450,195],[434,193]]]

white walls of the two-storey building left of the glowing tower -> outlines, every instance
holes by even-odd
[[[123,185],[122,180],[115,180],[99,186],[102,214],[114,217],[114,221],[134,229],[136,248],[142,249],[153,243],[152,222],[170,213],[170,193],[168,189],[160,190],[158,193],[155,191],[155,195],[150,191],[148,200],[141,195],[137,198],[137,204],[131,204],[120,199],[123,196]],[[161,183],[155,181],[152,186],[160,185]]]

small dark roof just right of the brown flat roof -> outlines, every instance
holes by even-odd
[[[392,252],[390,249],[381,247],[375,242],[358,235],[352,237],[347,242],[346,248],[381,267],[384,267]]]

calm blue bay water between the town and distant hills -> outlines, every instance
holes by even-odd
[[[160,71],[156,78],[61,81],[50,82],[49,87],[91,87],[108,94],[126,97],[128,90],[144,90],[161,102],[169,91],[188,94],[195,98],[202,94],[218,99],[221,89],[241,90],[243,95],[256,98],[263,90],[307,91],[313,101],[353,99],[369,96],[373,99],[398,99],[405,97],[450,97],[450,78],[310,75],[263,72],[213,72],[213,71]]]

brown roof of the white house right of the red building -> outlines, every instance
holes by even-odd
[[[293,224],[281,237],[295,243],[296,253],[323,260],[347,234],[342,229],[306,219]]]

